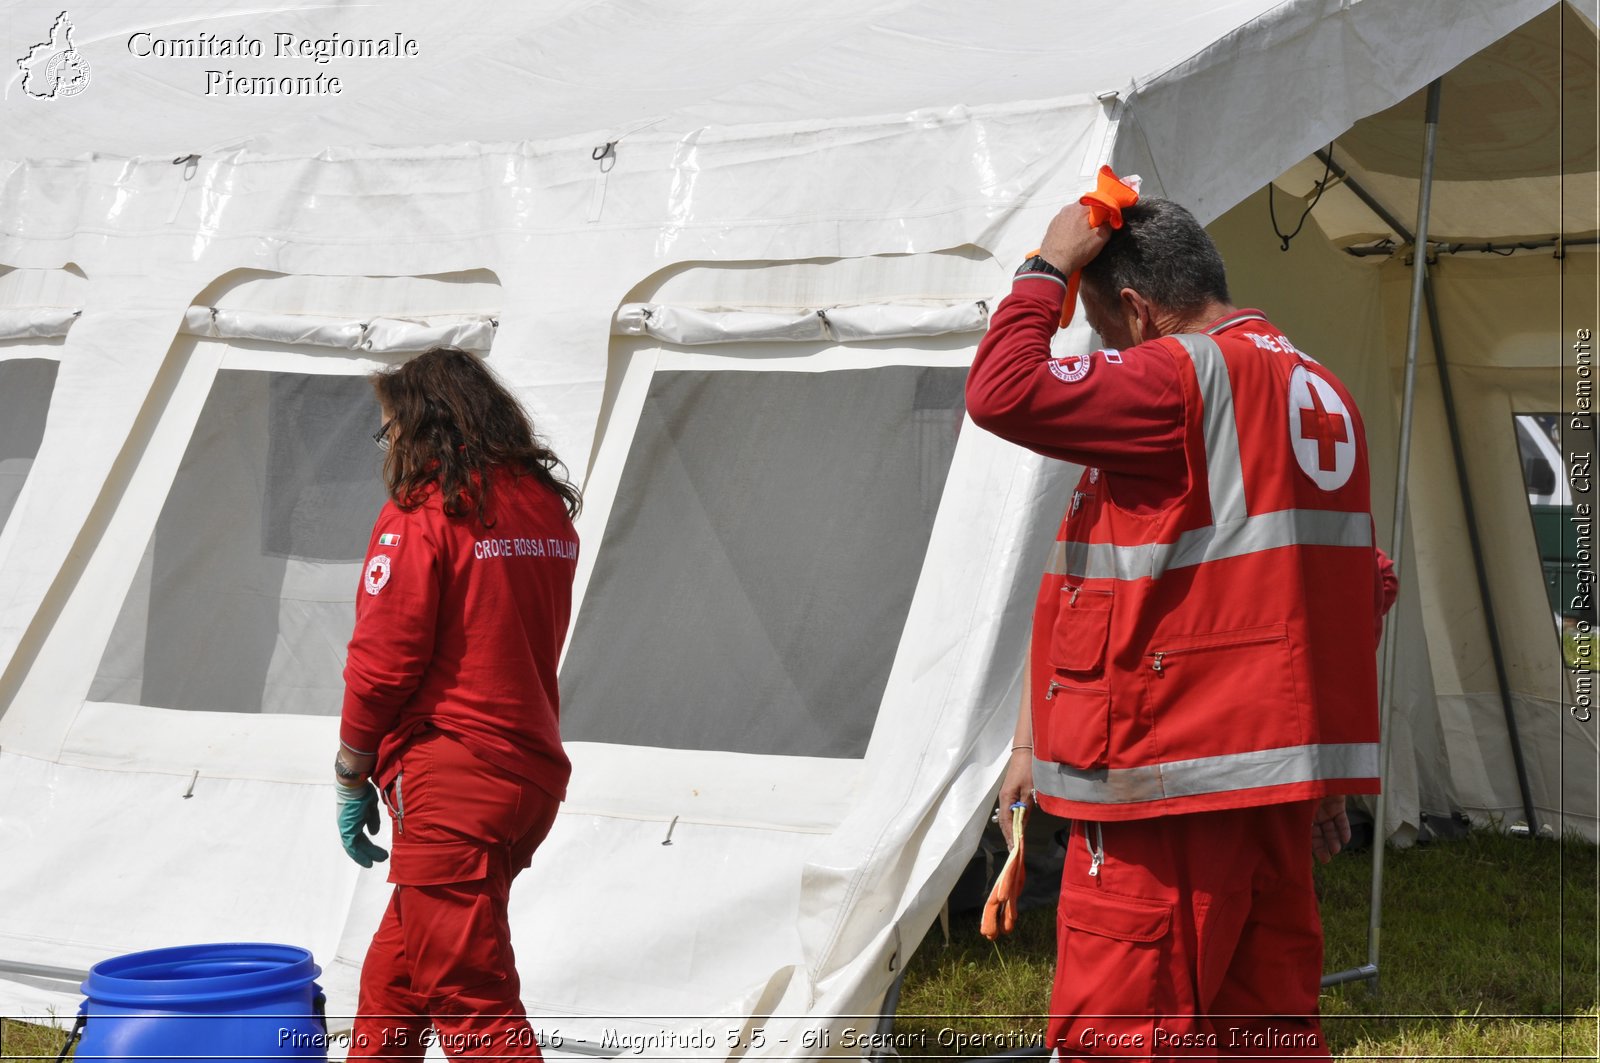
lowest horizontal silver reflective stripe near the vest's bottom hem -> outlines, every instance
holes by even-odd
[[[1034,789],[1046,797],[1094,805],[1130,805],[1259,786],[1376,776],[1378,743],[1285,746],[1098,772],[1034,759]]]

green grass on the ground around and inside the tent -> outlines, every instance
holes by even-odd
[[[1368,853],[1317,871],[1328,970],[1366,961]],[[1322,996],[1333,1053],[1347,1060],[1597,1058],[1600,927],[1597,850],[1566,840],[1474,832],[1390,850],[1378,993],[1365,983]],[[957,917],[952,945],[934,927],[906,973],[896,1034],[922,1031],[926,1055],[949,1055],[939,1031],[1000,1039],[960,1055],[994,1055],[1043,1036],[1054,972],[1054,911],[1024,913],[998,945]],[[0,1057],[54,1060],[64,1034],[0,1023]],[[906,1050],[902,1055],[923,1055]]]

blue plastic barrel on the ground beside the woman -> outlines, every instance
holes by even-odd
[[[184,945],[94,964],[75,1060],[326,1060],[322,975],[293,945]]]

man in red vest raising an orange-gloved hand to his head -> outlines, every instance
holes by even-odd
[[[1328,1055],[1312,852],[1378,789],[1366,442],[1181,207],[1064,208],[968,378],[979,426],[1085,466],[1040,588],[1002,808],[1070,816],[1064,1057]],[[1070,274],[1109,344],[1051,357]]]

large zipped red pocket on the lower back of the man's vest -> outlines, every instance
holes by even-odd
[[[1152,642],[1144,664],[1163,760],[1306,741],[1283,624]]]

